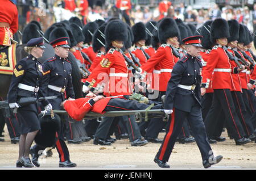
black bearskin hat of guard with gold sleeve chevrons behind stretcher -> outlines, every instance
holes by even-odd
[[[125,43],[127,39],[127,25],[122,20],[112,20],[105,28],[106,52],[108,52],[111,41],[118,40]]]

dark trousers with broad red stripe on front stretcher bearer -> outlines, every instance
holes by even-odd
[[[201,114],[201,107],[199,104],[195,104],[191,108],[191,112],[185,112],[174,108],[174,112],[171,114],[170,119],[168,121],[168,127],[166,136],[164,136],[164,140],[160,149],[156,156],[163,162],[168,162],[172,149],[174,148],[174,144],[177,136],[179,136],[181,132],[181,127],[183,125],[183,121],[187,118],[193,136],[195,137],[196,144],[199,147],[201,157],[204,160],[208,159],[212,153],[212,149],[210,148],[210,144],[207,138],[207,134],[205,133],[204,122]]]

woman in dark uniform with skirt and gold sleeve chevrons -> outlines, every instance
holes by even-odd
[[[38,58],[43,56],[44,41],[42,37],[31,39],[25,47],[25,51],[30,54],[16,64],[11,85],[8,93],[10,108],[18,108],[18,119],[20,121],[19,158],[16,167],[34,167],[32,165],[29,151],[34,138],[40,130],[37,104],[19,107],[19,99],[23,97],[44,97],[39,89],[43,76],[42,65]],[[43,102],[46,110],[52,109],[48,101]]]

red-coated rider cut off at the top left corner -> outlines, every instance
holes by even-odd
[[[1,1],[0,45],[10,46],[14,33],[18,30],[18,10],[10,0]]]

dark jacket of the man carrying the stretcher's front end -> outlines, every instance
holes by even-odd
[[[179,110],[190,112],[195,104],[201,106],[201,70],[202,64],[199,58],[186,54],[174,65],[172,77],[168,82],[166,100],[164,109]],[[195,85],[195,90],[187,90],[178,87],[178,85],[191,86]]]

